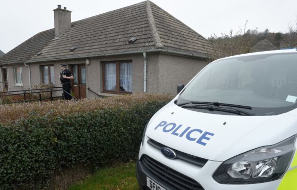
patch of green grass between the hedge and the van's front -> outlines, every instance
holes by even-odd
[[[68,189],[139,189],[135,167],[134,162],[108,165]]]

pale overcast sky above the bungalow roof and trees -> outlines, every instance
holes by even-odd
[[[0,50],[7,53],[38,32],[54,28],[57,5],[72,11],[72,21],[98,15],[144,0],[1,0]],[[235,33],[238,27],[287,32],[297,20],[296,0],[152,0],[153,3],[208,38]]]

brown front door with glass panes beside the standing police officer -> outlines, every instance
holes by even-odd
[[[86,98],[86,70],[85,65],[73,65],[72,91],[77,99]]]

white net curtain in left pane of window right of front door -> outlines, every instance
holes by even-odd
[[[117,85],[117,64],[105,64],[105,90],[116,91]]]

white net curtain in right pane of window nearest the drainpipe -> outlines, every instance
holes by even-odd
[[[132,63],[120,65],[120,91],[132,92]]]

